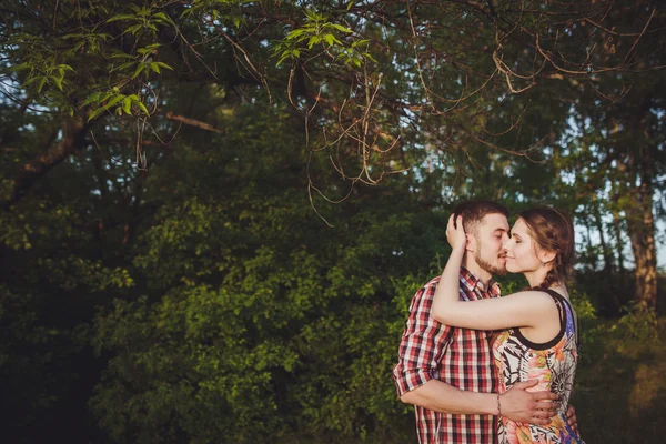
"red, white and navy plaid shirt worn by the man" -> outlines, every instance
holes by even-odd
[[[500,296],[500,285],[488,289],[466,269],[461,268],[461,300]],[[456,329],[431,317],[431,306],[440,278],[425,284],[412,299],[410,317],[400,343],[393,379],[397,394],[412,391],[430,380],[454,387],[492,393],[497,379],[490,344],[493,332]],[[497,423],[493,415],[452,415],[416,407],[418,442],[493,444],[497,442]]]

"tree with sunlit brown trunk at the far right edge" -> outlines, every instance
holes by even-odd
[[[654,310],[657,303],[655,205],[659,201],[656,191],[663,189],[659,183],[665,169],[664,81],[659,72],[665,60],[662,51],[655,49],[665,44],[664,34],[659,32],[664,9],[650,2],[638,6],[638,13],[629,14],[634,2],[618,4],[610,12],[617,28],[602,30],[608,57],[613,57],[622,44],[618,37],[642,21],[642,14],[649,14],[649,22],[640,33],[634,34],[635,42],[626,56],[634,68],[622,73],[601,73],[602,90],[593,84],[579,85],[581,95],[574,102],[572,114],[577,131],[571,139],[577,147],[571,150],[586,154],[572,162],[569,171],[585,171],[586,178],[582,179],[588,183],[588,192],[599,195],[592,202],[591,215],[597,220],[603,243],[606,229],[601,212],[608,214],[607,223],[620,243],[619,219],[626,221],[634,256],[635,301]],[[602,244],[605,268],[613,269],[614,261],[617,261],[617,270],[624,268],[622,248],[616,252],[614,258],[610,248]]]

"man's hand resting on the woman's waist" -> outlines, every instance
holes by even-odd
[[[506,393],[500,395],[502,416],[518,423],[547,425],[555,416],[559,403],[553,392],[527,392],[526,389],[538,384],[537,380],[515,383]],[[574,415],[575,417],[575,415]]]

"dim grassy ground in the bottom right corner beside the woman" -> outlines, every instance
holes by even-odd
[[[612,325],[601,326],[604,334]],[[587,444],[666,441],[666,319],[658,334],[659,341],[599,337],[593,350],[582,349],[572,404]]]

